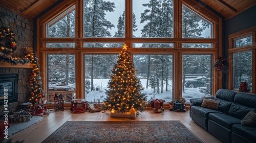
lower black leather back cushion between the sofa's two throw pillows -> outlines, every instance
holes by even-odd
[[[242,120],[251,109],[252,108],[241,104],[232,103],[231,107],[228,110],[228,114]]]

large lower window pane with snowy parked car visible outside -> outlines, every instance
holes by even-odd
[[[211,95],[211,55],[182,55],[182,97],[186,101]]]

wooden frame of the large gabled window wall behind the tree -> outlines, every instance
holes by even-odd
[[[125,37],[124,38],[83,38],[83,1],[82,0],[63,0],[57,7],[49,10],[44,15],[39,17],[36,21],[36,35],[37,35],[37,52],[39,63],[41,67],[41,78],[42,87],[48,91],[47,85],[47,65],[46,65],[46,54],[54,53],[70,53],[76,56],[76,98],[84,98],[84,53],[91,54],[108,54],[108,53],[119,53],[120,48],[83,48],[83,42],[125,42],[125,44],[130,47],[129,52],[132,54],[173,54],[174,55],[174,87],[173,87],[173,99],[182,96],[181,78],[180,72],[182,70],[182,54],[212,54],[212,61],[215,61],[218,57],[222,57],[222,18],[211,12],[205,6],[201,5],[197,1],[189,0],[174,0],[174,38],[150,38],[151,42],[172,42],[174,43],[174,48],[161,48],[161,49],[149,49],[149,48],[133,48],[133,42],[148,42],[148,38],[133,38],[132,35],[132,0],[125,1]],[[191,10],[194,10],[204,18],[212,22],[212,27],[214,28],[212,33],[212,38],[182,38],[182,4],[186,5]],[[61,14],[63,11],[69,9],[71,6],[75,5],[76,9],[76,33],[74,38],[46,38],[46,24],[54,19],[56,16]],[[62,48],[46,48],[46,42],[74,42],[76,43],[73,49],[62,49]],[[212,48],[182,48],[182,42],[186,43],[213,43]],[[214,84],[212,86],[212,94],[215,94],[219,88],[222,88],[222,73],[216,70],[213,71],[212,80]]]

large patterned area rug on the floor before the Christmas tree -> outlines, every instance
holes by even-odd
[[[67,121],[43,142],[202,142],[180,121]]]

